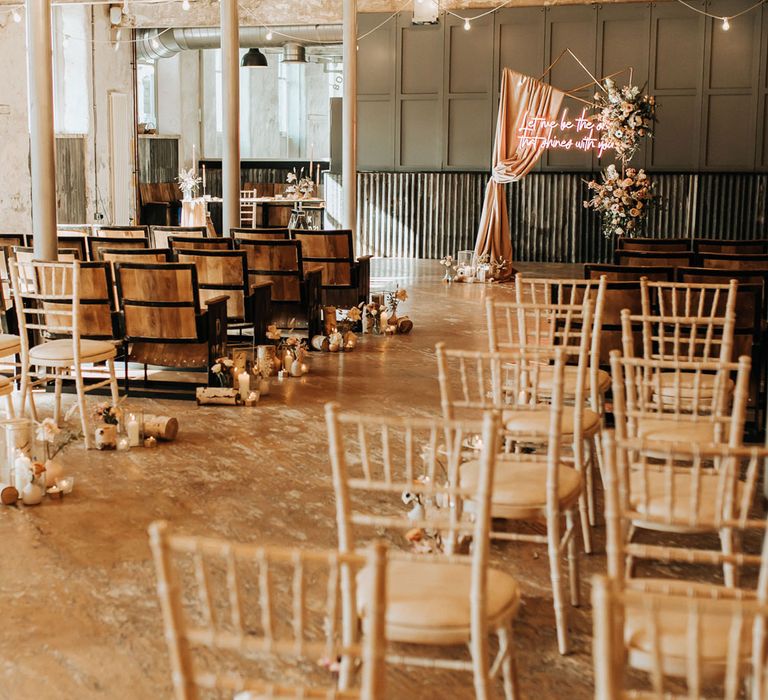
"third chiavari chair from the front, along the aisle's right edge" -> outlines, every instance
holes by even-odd
[[[561,559],[568,556],[571,604],[579,604],[576,521],[584,492],[583,474],[560,457],[563,418],[564,348],[520,349],[519,352],[447,350],[438,343],[440,402],[447,420],[476,417],[480,411],[501,412],[505,437],[514,448],[500,455],[494,470],[491,515],[517,522],[544,522],[546,534],[493,531],[494,539],[547,545],[550,580],[560,653],[570,650]],[[554,365],[547,363],[553,361]],[[539,379],[552,377],[539,396]],[[543,401],[548,405],[543,408]],[[531,420],[524,420],[525,416]],[[510,429],[508,418],[516,418]],[[544,446],[543,450],[541,449]],[[531,453],[531,447],[537,452]],[[525,449],[523,449],[525,448]],[[475,488],[481,465],[459,467],[459,484]],[[561,531],[561,519],[566,527]],[[588,527],[582,520],[582,529]]]

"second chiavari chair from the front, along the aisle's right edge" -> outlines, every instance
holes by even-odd
[[[498,416],[487,412],[482,423],[395,418],[342,413],[328,404],[326,421],[342,554],[355,551],[368,533],[386,531],[411,539],[438,533],[430,553],[389,557],[387,641],[420,650],[467,645],[471,655],[463,660],[403,650],[388,652],[387,661],[470,671],[478,698],[492,695],[492,683],[501,673],[506,697],[515,697],[511,636],[520,592],[511,576],[488,566],[491,484],[501,438]],[[462,444],[478,433],[481,467],[476,487],[468,489],[458,486]],[[464,511],[465,499],[472,500],[474,522]],[[472,538],[471,555],[458,552],[467,537]],[[421,544],[429,542],[422,539]],[[358,577],[356,585],[358,610],[365,611],[372,595],[370,577]],[[499,640],[492,662],[491,633]],[[342,687],[348,673],[342,665]]]

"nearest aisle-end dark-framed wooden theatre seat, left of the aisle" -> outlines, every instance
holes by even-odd
[[[207,384],[210,367],[226,354],[227,297],[208,299],[201,310],[197,268],[187,263],[116,263],[115,276],[128,360],[144,365],[145,386],[147,365],[203,369],[198,385]]]

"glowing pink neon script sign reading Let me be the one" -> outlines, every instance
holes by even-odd
[[[560,119],[548,120],[544,117],[528,117],[525,113],[520,135],[520,148],[534,146],[538,151],[558,149],[563,151],[592,151],[597,149],[597,157],[603,155],[608,146],[600,141],[603,125],[592,123],[587,116],[586,107],[575,120],[568,118],[568,109],[563,110]]]

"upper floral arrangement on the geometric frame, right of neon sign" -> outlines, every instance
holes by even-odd
[[[627,162],[640,147],[643,136],[653,136],[656,99],[643,95],[639,87],[618,87],[610,78],[603,83],[604,92],[595,94],[600,108],[596,115],[600,143],[613,149],[619,160]]]

